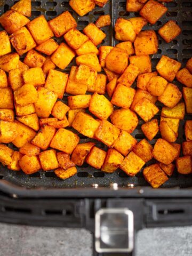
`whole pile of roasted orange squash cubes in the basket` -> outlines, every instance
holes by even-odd
[[[69,5],[83,16],[95,4],[102,8],[107,2],[70,0]],[[3,165],[26,174],[54,170],[63,180],[84,163],[107,173],[120,168],[129,176],[142,170],[154,188],[171,177],[175,165],[181,174],[192,172],[191,118],[182,127],[185,141],[175,143],[180,120],[192,114],[192,59],[181,68],[180,62],[162,55],[152,72],[151,55],[157,53],[158,38],[153,26],[142,30],[167,12],[161,2],[127,0],[126,10],[140,16],[116,20],[115,46],[101,45],[106,37],[101,28],[111,26],[110,15],[101,15],[79,31],[69,11],[49,21],[44,15],[29,20],[31,2],[20,0],[0,17]],[[180,33],[172,20],[158,30],[166,43]],[[57,37],[63,38],[60,44]],[[67,74],[64,69],[74,59],[76,66]],[[63,95],[68,95],[67,104]],[[162,109],[156,106],[158,101]],[[140,141],[131,134],[139,119],[146,137]],[[161,138],[156,140],[157,133]],[[79,143],[79,134],[90,142]],[[95,146],[97,141],[107,150]],[[155,163],[149,165],[153,158]]]

